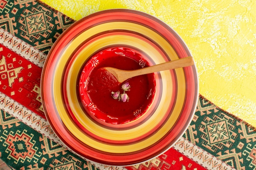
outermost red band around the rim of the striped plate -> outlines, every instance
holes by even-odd
[[[183,135],[193,118],[197,106],[199,95],[198,75],[195,65],[183,68],[186,77],[186,87],[189,88],[186,89],[182,114],[175,123],[179,124],[179,126],[174,126],[170,132],[167,133],[164,139],[161,139],[153,146],[150,146],[150,148],[145,148],[143,150],[138,150],[137,152],[120,155],[116,153],[113,154],[102,152],[82,143],[65,127],[63,121],[58,115],[56,108],[54,107],[54,98],[52,97],[52,83],[54,77],[51,75],[53,75],[55,71],[56,63],[58,63],[58,57],[63,53],[65,46],[67,46],[70,41],[72,41],[84,30],[89,29],[97,24],[110,21],[134,22],[136,24],[146,26],[157,32],[164,39],[166,39],[166,41],[170,42],[178,57],[182,58],[191,56],[188,47],[180,38],[180,36],[173,29],[171,29],[171,27],[159,19],[153,17],[152,15],[130,9],[110,9],[100,11],[88,15],[87,17],[75,22],[56,40],[52,46],[52,49],[49,51],[48,57],[43,67],[41,79],[41,96],[43,101],[43,108],[45,110],[49,124],[51,125],[56,135],[68,148],[81,155],[82,157],[85,157],[86,159],[96,163],[111,166],[128,166],[157,157],[164,151],[171,148],[171,146],[175,144],[175,141],[177,141]],[[70,142],[71,139],[72,142]],[[163,147],[159,149],[159,146]],[[157,152],[151,153],[152,150],[157,150]]]

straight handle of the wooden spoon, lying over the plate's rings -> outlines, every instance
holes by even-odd
[[[191,66],[193,64],[194,64],[193,57],[184,57],[181,59],[172,60],[169,62],[157,64],[154,66],[149,66],[149,67],[140,68],[137,70],[127,71],[127,73],[129,73],[130,77],[135,77],[138,75],[144,75],[144,74],[154,73],[154,72],[158,72],[158,71],[164,71],[164,70],[170,70],[170,69],[174,69],[174,68]]]

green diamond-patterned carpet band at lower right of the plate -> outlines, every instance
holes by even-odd
[[[236,169],[256,168],[255,128],[218,108],[202,95],[183,137]]]

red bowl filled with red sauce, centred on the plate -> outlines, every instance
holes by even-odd
[[[102,67],[115,67],[135,70],[149,66],[143,56],[129,48],[110,48],[103,50],[85,63],[79,79],[79,97],[86,113],[93,119],[110,124],[125,124],[143,115],[155,95],[154,74],[140,75],[126,80],[130,85],[124,91],[119,83]],[[126,93],[128,99],[114,99],[112,92]]]

